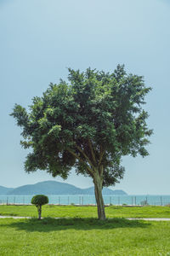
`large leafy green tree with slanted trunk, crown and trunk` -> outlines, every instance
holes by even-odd
[[[69,68],[68,83],[50,84],[29,110],[14,106],[11,115],[23,128],[21,145],[31,148],[26,172],[46,170],[53,177],[77,174],[93,178],[99,219],[105,219],[104,186],[123,177],[123,155],[148,154],[152,131],[142,108],[150,91],[141,76],[118,65],[113,73]]]

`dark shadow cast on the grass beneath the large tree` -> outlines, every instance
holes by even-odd
[[[97,218],[30,218],[17,220],[2,226],[13,227],[27,232],[49,232],[57,230],[111,230],[120,228],[147,228],[149,223],[126,218],[111,218],[100,221]]]

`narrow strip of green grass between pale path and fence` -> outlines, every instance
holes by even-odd
[[[105,207],[107,218],[170,218],[170,207]],[[0,206],[0,215],[37,217],[35,206]],[[43,206],[42,217],[97,218],[97,207]]]

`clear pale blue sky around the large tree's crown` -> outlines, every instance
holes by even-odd
[[[26,174],[20,128],[11,113],[41,96],[50,82],[67,79],[66,67],[144,75],[153,90],[145,108],[154,129],[150,156],[125,157],[126,174],[115,188],[128,194],[170,195],[170,1],[0,0],[0,185],[16,187],[53,179]],[[62,181],[56,177],[55,180]],[[87,188],[90,178],[66,181]]]

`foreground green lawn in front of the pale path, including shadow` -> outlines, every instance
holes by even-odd
[[[170,255],[170,222],[0,219],[0,255]]]

